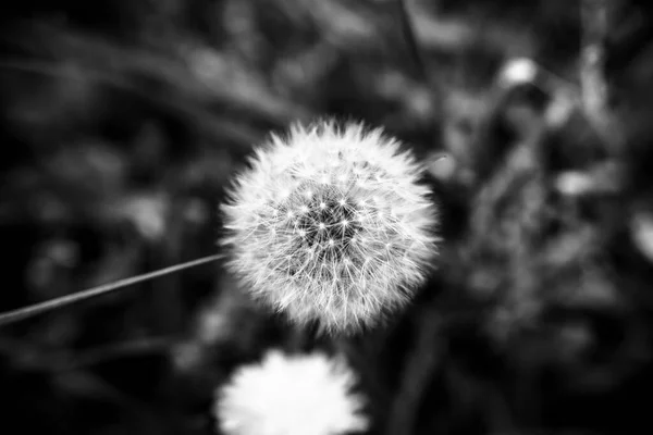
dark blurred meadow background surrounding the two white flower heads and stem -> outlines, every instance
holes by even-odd
[[[374,434],[653,431],[644,2],[9,8],[1,310],[215,252],[251,147],[321,115],[415,149],[444,243],[415,303],[357,337],[263,312],[219,263],[2,326],[0,433],[218,433],[214,389],[275,347],[345,352]]]

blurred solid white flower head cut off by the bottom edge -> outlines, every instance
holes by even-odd
[[[342,359],[270,351],[238,369],[215,394],[227,435],[338,435],[368,428],[356,375]]]

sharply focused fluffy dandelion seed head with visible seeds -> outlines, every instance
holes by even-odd
[[[296,323],[353,332],[405,306],[436,254],[423,167],[382,129],[295,125],[222,206],[230,269]]]

